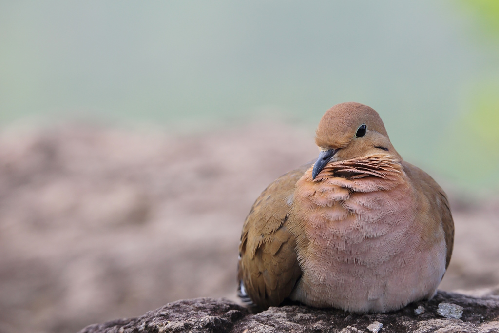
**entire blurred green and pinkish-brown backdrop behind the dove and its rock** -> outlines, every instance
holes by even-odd
[[[499,293],[499,2],[0,1],[0,333],[236,300],[251,204],[345,101],[449,194],[441,288]]]

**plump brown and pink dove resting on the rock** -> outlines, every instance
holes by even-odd
[[[386,313],[429,300],[449,266],[446,193],[395,150],[367,105],[333,106],[310,161],[277,178],[241,234],[238,295],[256,311],[286,302]]]

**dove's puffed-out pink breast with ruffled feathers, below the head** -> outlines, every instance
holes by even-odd
[[[331,163],[315,180],[308,170],[293,214],[298,301],[384,312],[433,296],[445,273],[445,243],[421,247],[414,188],[390,156]]]

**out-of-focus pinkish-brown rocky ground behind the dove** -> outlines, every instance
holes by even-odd
[[[180,299],[237,301],[243,221],[269,182],[316,157],[313,136],[278,123],[0,130],[0,333],[74,333]],[[440,288],[481,297],[499,285],[499,196],[461,197],[427,171],[456,223]]]

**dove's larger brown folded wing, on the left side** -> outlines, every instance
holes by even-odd
[[[260,309],[278,306],[301,276],[295,239],[287,224],[295,184],[313,165],[307,163],[271,183],[256,199],[246,218],[239,245],[239,296]]]

